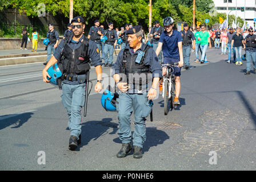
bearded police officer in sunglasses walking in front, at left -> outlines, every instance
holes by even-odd
[[[43,81],[49,82],[47,77],[50,76],[47,70],[57,63],[62,72],[61,100],[69,117],[69,149],[75,150],[81,143],[81,110],[85,104],[85,82],[87,71],[90,69],[89,59],[92,60],[97,75],[95,92],[102,89],[102,68],[97,45],[83,35],[85,28],[83,18],[77,16],[71,20],[71,24],[73,36],[68,40],[62,40],[59,44],[57,51],[43,69]]]

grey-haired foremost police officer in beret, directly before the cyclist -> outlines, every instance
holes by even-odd
[[[119,91],[118,119],[121,150],[117,157],[125,157],[131,150],[133,157],[142,158],[142,146],[146,140],[146,117],[151,112],[151,100],[157,96],[161,65],[153,48],[142,42],[141,26],[127,32],[129,46],[122,49],[113,68],[113,77]],[[153,78],[153,82],[152,82]],[[131,136],[131,114],[134,111],[134,133]]]

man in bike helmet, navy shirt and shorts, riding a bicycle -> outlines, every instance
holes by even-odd
[[[161,34],[157,50],[155,53],[157,55],[163,50],[163,64],[177,63],[178,67],[174,67],[175,75],[175,98],[174,105],[180,105],[179,103],[179,93],[181,92],[181,68],[183,66],[183,53],[182,53],[182,36],[181,32],[174,30],[174,20],[170,16],[163,19],[163,26],[165,31]],[[166,67],[162,68],[162,75],[166,74]],[[159,86],[162,86],[162,81],[160,81]],[[161,88],[160,88],[161,90]]]

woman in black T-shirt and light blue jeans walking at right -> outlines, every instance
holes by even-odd
[[[232,38],[231,49],[235,48],[235,65],[242,65],[242,48],[245,48],[243,44],[243,36],[241,35],[241,28],[237,28],[236,34]]]

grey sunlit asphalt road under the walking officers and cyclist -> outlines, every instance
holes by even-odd
[[[154,100],[141,159],[116,157],[117,113],[105,111],[93,90],[81,146],[69,151],[61,91],[42,81],[42,63],[0,67],[0,170],[255,170],[256,75],[243,75],[246,61],[227,64],[219,53],[207,51],[209,64],[191,54],[181,106],[164,115],[163,99]],[[110,68],[103,72],[107,79]]]

